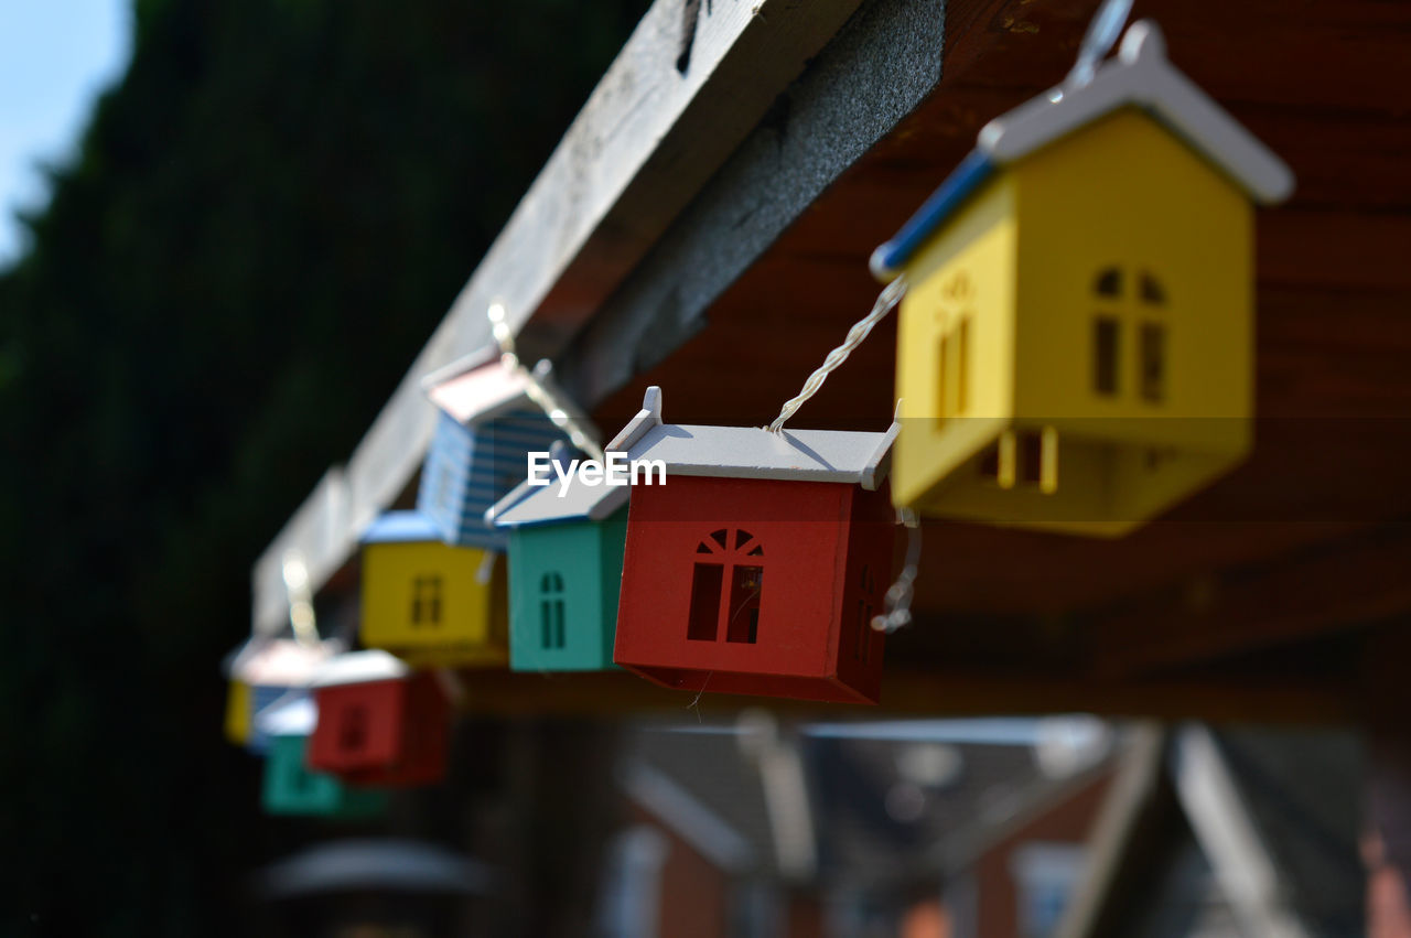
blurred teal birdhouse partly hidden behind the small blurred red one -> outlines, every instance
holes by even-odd
[[[387,793],[350,788],[336,776],[312,772],[305,759],[317,724],[317,705],[298,694],[264,714],[258,722],[270,741],[265,757],[264,808],[268,814],[364,818],[387,807]]]

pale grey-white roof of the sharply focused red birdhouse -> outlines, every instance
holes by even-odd
[[[886,433],[693,426],[662,422],[662,391],[648,388],[642,410],[608,443],[631,460],[662,460],[672,475],[852,482],[875,489],[886,477],[899,425]]]

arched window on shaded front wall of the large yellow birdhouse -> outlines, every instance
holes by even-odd
[[[1136,337],[1136,391],[1147,403],[1165,399],[1165,289],[1149,271],[1123,276],[1116,267],[1099,271],[1092,293],[1092,391],[1102,398],[1122,394],[1125,333]]]

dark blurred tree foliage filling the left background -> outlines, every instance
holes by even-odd
[[[645,6],[137,1],[0,274],[0,930],[219,934],[298,836],[220,739],[251,561]]]

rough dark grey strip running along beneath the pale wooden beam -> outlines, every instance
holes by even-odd
[[[694,344],[707,307],[935,87],[943,18],[941,0],[859,10],[576,337],[563,375],[580,399],[601,401],[628,382],[641,399],[641,372]],[[865,281],[865,265],[858,271]]]

